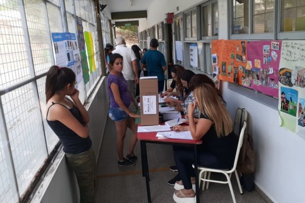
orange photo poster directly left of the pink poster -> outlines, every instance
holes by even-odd
[[[246,46],[245,41],[223,41],[222,47],[219,49],[220,80],[242,83],[242,77],[245,75],[247,64]]]

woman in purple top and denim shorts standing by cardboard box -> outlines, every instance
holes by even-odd
[[[127,81],[121,73],[123,70],[123,56],[117,53],[112,54],[110,56],[109,65],[111,71],[107,78],[107,88],[110,97],[108,115],[115,122],[116,151],[119,157],[117,165],[133,166],[137,161],[137,156],[134,154],[134,148],[138,141],[135,118],[139,118],[140,116],[131,112],[129,106],[131,101],[133,101],[136,108],[138,105],[134,97],[128,91]],[[130,140],[129,154],[124,158],[123,149],[127,127],[129,127],[133,133]]]

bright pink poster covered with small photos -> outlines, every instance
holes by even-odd
[[[247,60],[252,66],[246,69],[243,86],[278,97],[281,46],[282,41],[248,42]]]

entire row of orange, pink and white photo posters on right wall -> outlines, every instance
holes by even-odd
[[[278,98],[280,125],[305,139],[305,41],[211,44],[213,76]]]

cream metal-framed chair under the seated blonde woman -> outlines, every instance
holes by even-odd
[[[230,179],[231,179],[232,173],[234,172],[235,176],[236,176],[236,181],[237,181],[237,184],[238,184],[238,187],[239,187],[240,194],[242,194],[243,192],[242,192],[240,182],[239,182],[239,177],[238,177],[238,174],[237,174],[237,171],[236,171],[236,165],[237,165],[239,151],[240,151],[240,148],[242,146],[243,136],[244,136],[246,127],[247,127],[247,122],[243,121],[242,128],[241,128],[240,134],[239,134],[238,145],[237,145],[237,150],[236,150],[236,154],[235,154],[235,160],[234,160],[234,164],[233,164],[232,168],[227,169],[227,170],[226,169],[221,170],[221,169],[216,169],[216,168],[206,168],[206,167],[198,166],[198,170],[200,171],[199,176],[198,176],[199,177],[199,186],[200,186],[200,182],[204,181],[203,184],[202,184],[202,190],[204,190],[205,181],[207,182],[206,189],[208,189],[208,183],[209,182],[229,184],[229,188],[230,188],[232,199],[233,199],[234,203],[236,203],[236,200],[235,200],[235,195],[234,195],[234,192],[233,192],[233,188],[232,188],[232,184],[231,184]],[[210,173],[211,172],[224,174],[227,178],[227,181],[210,180]],[[206,178],[206,173],[208,173],[207,178]]]

